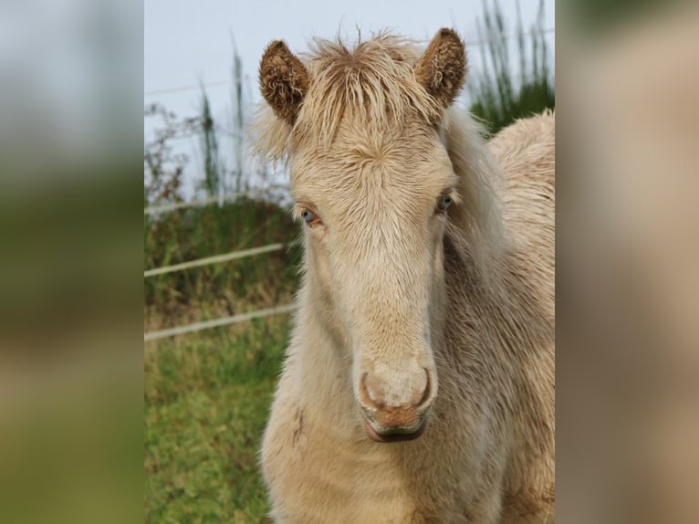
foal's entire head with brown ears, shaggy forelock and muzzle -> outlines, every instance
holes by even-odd
[[[354,396],[379,441],[420,435],[437,393],[442,237],[458,198],[438,129],[465,71],[449,29],[422,57],[386,48],[381,38],[351,56],[329,48],[307,68],[277,41],[260,64],[262,93],[289,133],[308,299],[351,352]]]

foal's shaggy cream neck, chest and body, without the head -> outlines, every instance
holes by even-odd
[[[403,48],[392,44],[382,48]],[[295,89],[286,110],[262,118],[260,139],[292,162],[297,117],[303,126],[304,91]],[[555,117],[517,121],[487,147],[458,110],[444,110],[439,125],[465,196],[443,232],[439,390],[424,433],[391,444],[368,438],[350,352],[332,336],[333,312],[307,271],[261,453],[276,521],[554,521]],[[497,203],[483,216],[468,209],[487,196],[478,184]]]

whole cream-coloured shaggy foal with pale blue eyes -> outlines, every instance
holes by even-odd
[[[276,522],[553,522],[555,115],[488,142],[462,39],[283,41],[257,152],[302,278],[260,461]]]

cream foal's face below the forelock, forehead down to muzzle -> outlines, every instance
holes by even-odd
[[[322,155],[301,147],[292,194],[313,299],[350,348],[368,434],[388,441],[420,435],[437,393],[443,229],[458,195],[435,131],[358,131],[343,127]]]

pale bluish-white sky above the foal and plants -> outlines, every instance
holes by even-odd
[[[514,32],[516,2],[499,3]],[[527,29],[536,19],[538,4],[538,0],[520,1]],[[553,28],[555,0],[544,0],[544,5],[544,26]],[[256,103],[261,99],[256,88],[257,65],[269,42],[283,39],[293,52],[302,52],[313,37],[340,34],[353,41],[358,28],[362,38],[389,28],[428,41],[440,27],[454,27],[466,42],[473,74],[481,67],[481,58],[479,48],[469,42],[478,40],[476,18],[482,11],[480,0],[145,0],[144,104],[160,102],[178,116],[193,116],[200,105],[198,84],[203,82],[214,120],[231,121],[228,82],[234,43],[242,58],[245,95]],[[553,60],[555,33],[546,37]],[[153,125],[151,119],[144,124],[146,140]],[[178,147],[196,149],[196,142]]]

